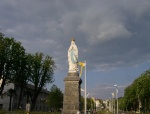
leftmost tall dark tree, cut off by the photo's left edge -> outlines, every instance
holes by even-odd
[[[0,86],[0,95],[3,92],[4,85],[7,81],[12,81],[13,76],[17,73],[17,68],[19,66],[15,66],[14,61],[21,60],[21,56],[24,54],[25,49],[21,45],[20,42],[14,40],[14,38],[4,37],[4,35],[0,34],[0,44],[1,45],[1,53],[0,53],[0,75],[2,78],[2,84]]]

